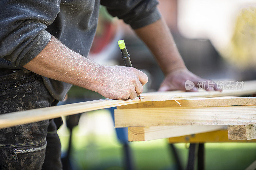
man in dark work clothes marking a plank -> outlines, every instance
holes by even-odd
[[[156,0],[2,0],[1,114],[55,105],[71,84],[110,99],[134,99],[142,93],[148,81],[143,72],[86,59],[100,4],[130,24],[155,55],[166,76],[161,91],[185,90],[186,80],[207,81],[185,67]],[[207,90],[217,89],[207,85]],[[56,130],[53,120],[1,129],[0,167],[61,169]]]

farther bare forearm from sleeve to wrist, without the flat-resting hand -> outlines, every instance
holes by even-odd
[[[134,30],[155,55],[164,74],[186,68],[164,19]]]

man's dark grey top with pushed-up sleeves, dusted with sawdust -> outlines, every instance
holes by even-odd
[[[157,0],[1,0],[0,68],[24,69],[22,66],[44,49],[51,36],[87,57],[100,4],[133,29],[160,18]],[[71,87],[47,77],[43,80],[57,100],[63,100]]]

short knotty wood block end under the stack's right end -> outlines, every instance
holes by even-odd
[[[256,125],[228,125],[229,140],[256,139]]]

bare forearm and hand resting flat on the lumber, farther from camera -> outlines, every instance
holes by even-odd
[[[135,29],[134,31],[155,55],[159,66],[165,74],[165,79],[159,91],[197,91],[196,87],[202,81],[208,82],[204,89],[208,91],[220,90],[213,81],[198,77],[186,68],[164,19],[159,19],[150,25]],[[186,89],[187,80],[195,84],[193,89]],[[210,83],[213,84],[213,87],[209,85]]]

